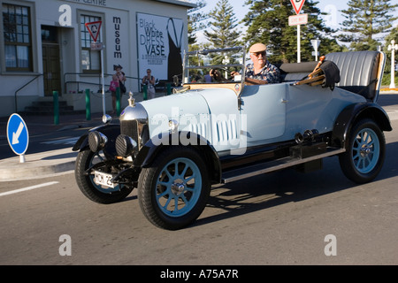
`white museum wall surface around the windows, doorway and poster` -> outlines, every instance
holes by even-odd
[[[185,27],[188,25],[187,7],[149,0],[3,0],[0,1],[0,3],[30,5],[32,7],[32,44],[34,53],[33,73],[7,73],[4,68],[4,59],[2,58],[0,60],[0,85],[2,86],[0,90],[0,116],[9,116],[14,112],[15,90],[27,81],[32,80],[35,75],[43,72],[42,25],[59,27],[61,73],[81,73],[79,12],[94,12],[103,15],[103,26],[101,28],[103,42],[105,44],[103,60],[104,71],[105,73],[113,73],[113,65],[123,65],[123,71],[126,75],[134,78],[139,77],[137,61],[137,12],[183,19]],[[71,7],[71,22],[66,27],[60,27],[59,19],[65,11],[59,11],[59,8],[61,5],[65,4]],[[120,24],[118,22],[115,23],[114,19],[120,20]],[[117,24],[120,26],[117,26]],[[0,56],[4,56],[3,25],[0,23],[0,26]],[[119,30],[117,30],[118,27]],[[188,40],[186,32],[184,33],[184,37],[185,48],[187,48]],[[120,51],[117,49],[120,49]],[[121,54],[121,57],[119,57],[119,54]],[[153,71],[156,73],[156,69]],[[98,83],[99,76],[70,75],[67,76],[66,80],[81,80]],[[110,77],[106,77],[105,84],[109,85],[110,80]],[[65,81],[62,79],[63,90],[64,86]],[[80,89],[77,89],[75,84],[69,84],[68,86],[69,88],[66,89],[66,93],[68,94],[73,94],[73,91],[81,91],[87,88],[87,86],[82,85]],[[96,87],[91,86],[90,88],[94,89]],[[134,92],[138,91],[138,80],[127,80],[126,88]],[[39,96],[43,96],[42,77],[34,80],[27,88],[23,88],[19,91],[18,102],[20,101],[20,103],[18,103],[18,111],[23,111],[25,106],[29,105],[29,103],[36,100]]]

